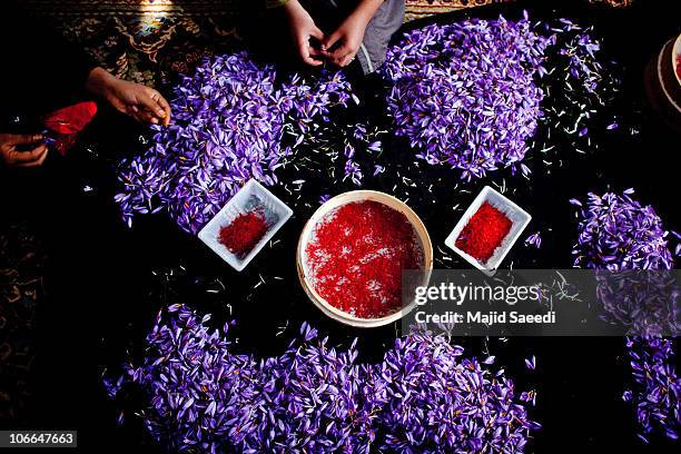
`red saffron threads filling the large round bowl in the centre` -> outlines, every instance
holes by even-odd
[[[418,269],[423,250],[399,211],[377,201],[354,201],[330,211],[315,228],[306,255],[315,290],[359,318],[402,308],[402,272]]]

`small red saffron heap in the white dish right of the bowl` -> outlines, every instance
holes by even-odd
[[[456,238],[456,247],[486,263],[511,231],[513,223],[490,203],[483,203]]]

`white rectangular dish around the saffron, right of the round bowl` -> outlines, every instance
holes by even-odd
[[[501,245],[494,250],[492,257],[490,257],[490,259],[483,264],[475,257],[472,257],[471,255],[456,247],[456,238],[458,238],[458,235],[461,235],[461,230],[463,230],[466,224],[468,224],[471,217],[485,201],[487,201],[494,208],[506,215],[509,219],[511,219],[511,223],[513,225]],[[482,270],[487,275],[493,275],[496,268],[499,268],[499,266],[503,261],[504,257],[506,257],[506,254],[509,254],[515,241],[517,241],[517,238],[521,236],[525,227],[527,227],[527,224],[530,224],[531,219],[532,216],[530,216],[529,213],[515,205],[507,197],[501,195],[490,186],[485,186],[483,190],[480,191],[477,197],[475,197],[475,200],[473,200],[468,209],[466,209],[466,211],[463,214],[452,233],[450,233],[450,235],[445,239],[445,246],[462,256],[475,268]]]

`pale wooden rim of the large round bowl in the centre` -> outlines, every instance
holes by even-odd
[[[401,319],[403,316],[408,314],[416,306],[416,302],[412,300],[407,305],[404,305],[402,309],[394,312],[389,315],[377,317],[377,318],[361,318],[356,317],[352,314],[345,313],[326,302],[314,288],[308,276],[310,276],[309,270],[307,269],[306,263],[306,253],[307,244],[309,238],[312,237],[315,227],[317,224],[323,220],[326,215],[334,210],[335,208],[353,203],[353,201],[377,201],[383,204],[396,211],[402,213],[409,224],[414,227],[414,233],[416,234],[416,239],[423,250],[423,279],[420,285],[427,285],[431,278],[431,272],[433,270],[433,245],[431,243],[431,237],[423,225],[421,218],[403,201],[396,199],[393,196],[389,196],[384,193],[378,193],[375,190],[353,190],[349,193],[340,194],[329,200],[327,200],[324,205],[322,205],[315,214],[309,218],[309,220],[303,227],[303,231],[300,233],[300,238],[298,239],[298,250],[296,254],[296,265],[298,270],[298,278],[300,279],[300,285],[305,293],[309,297],[309,299],[317,306],[325,315],[330,318],[344,323],[346,325],[356,326],[361,328],[372,328],[376,326],[387,325],[389,323],[396,322]]]

